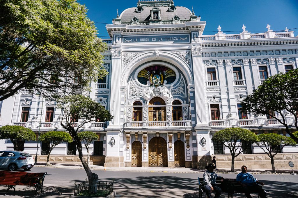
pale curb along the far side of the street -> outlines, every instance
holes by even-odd
[[[83,167],[61,167],[61,166],[45,166],[45,165],[35,165],[35,167],[47,167],[47,168],[65,168],[65,169],[81,169]],[[91,170],[103,170],[99,168],[91,167]],[[204,171],[158,171],[158,170],[119,170],[119,169],[106,169],[107,171],[122,171],[122,172],[162,172],[162,173],[189,173],[189,174],[203,174]],[[217,174],[238,174],[239,172],[216,172]],[[291,175],[291,173],[273,173],[273,172],[250,172],[252,174],[266,174],[266,175]]]

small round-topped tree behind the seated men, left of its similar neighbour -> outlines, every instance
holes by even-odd
[[[218,141],[225,147],[229,148],[232,156],[232,167],[231,171],[235,172],[235,157],[240,155],[242,150],[243,142],[256,142],[257,135],[251,132],[248,129],[242,128],[227,128],[221,131],[216,132],[213,137],[213,141]]]

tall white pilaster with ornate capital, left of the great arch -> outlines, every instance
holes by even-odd
[[[111,65],[111,101],[110,101],[110,113],[113,115],[113,119],[109,122],[108,127],[119,127],[119,98],[120,98],[120,73],[121,71],[121,48],[115,48],[111,50],[112,65]]]

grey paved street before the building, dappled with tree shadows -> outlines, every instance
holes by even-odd
[[[84,170],[35,167],[30,172],[47,172],[44,180],[44,194],[37,197],[69,197],[73,193],[75,182],[85,180]],[[198,177],[202,173],[170,173],[170,172],[124,172],[95,170],[101,180],[110,181],[114,178],[114,190],[117,197],[198,197]],[[236,174],[219,174],[225,178],[235,178]],[[271,198],[298,197],[298,176],[293,175],[254,175],[265,183],[264,189]],[[4,195],[5,186],[0,186],[0,195]],[[34,188],[16,186],[5,197],[32,197]],[[205,194],[204,194],[205,195]],[[256,194],[252,194],[257,198]],[[222,194],[221,197],[227,197]],[[234,194],[235,198],[244,194]]]

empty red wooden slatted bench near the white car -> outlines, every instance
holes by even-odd
[[[35,194],[38,190],[41,190],[44,184],[44,177],[46,172],[19,172],[19,171],[0,171],[0,185],[6,185],[7,194],[9,189],[13,188],[15,192],[15,186],[34,186],[36,187]]]

